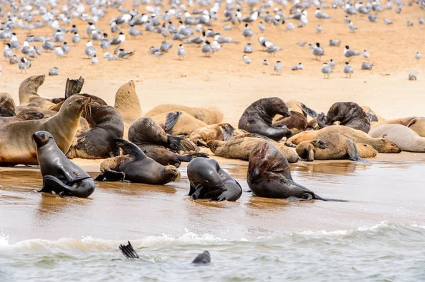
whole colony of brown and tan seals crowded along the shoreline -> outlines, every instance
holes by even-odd
[[[423,117],[371,122],[375,112],[355,102],[336,102],[326,116],[318,114],[317,130],[307,122],[307,117],[317,116],[314,110],[296,101],[288,105],[278,97],[254,101],[239,119],[239,128],[222,123],[223,115],[215,107],[180,105],[159,105],[149,111],[153,116],[165,114],[159,124],[142,114],[132,81],[118,89],[115,107],[79,93],[82,78],[67,80],[64,98],[42,98],[38,94],[42,83],[44,76],[26,78],[19,87],[18,107],[10,95],[0,93],[0,107],[12,111],[1,117],[0,164],[39,165],[40,192],[60,196],[87,197],[94,192],[93,180],[70,158],[106,158],[96,181],[146,184],[175,181],[181,162],[189,162],[189,196],[213,201],[237,201],[242,188],[209,156],[239,158],[249,161],[246,180],[254,195],[306,201],[327,199],[294,182],[289,163],[368,162],[364,158],[378,153],[425,152],[425,139],[419,135],[425,130]],[[184,135],[169,134],[185,116],[196,119],[193,124],[209,124]]]

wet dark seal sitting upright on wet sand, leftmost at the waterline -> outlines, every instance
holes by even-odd
[[[96,187],[90,175],[68,160],[57,147],[52,134],[37,131],[33,134],[37,144],[37,159],[42,175],[42,189],[38,192],[55,192],[59,196],[87,198]]]

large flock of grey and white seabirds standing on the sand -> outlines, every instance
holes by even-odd
[[[361,32],[361,28],[358,28],[353,21],[368,20],[369,25],[399,24],[394,23],[390,18],[380,19],[380,13],[382,11],[402,13],[405,6],[415,6],[425,12],[423,0],[406,2],[367,0],[364,3],[342,0],[333,0],[328,3],[319,0],[170,0],[167,2],[132,0],[131,6],[123,0],[23,0],[19,3],[4,0],[0,4],[0,40],[4,42],[3,54],[6,63],[17,64],[21,73],[26,73],[33,64],[36,66],[35,60],[43,53],[54,53],[57,64],[49,70],[49,75],[54,76],[59,74],[60,60],[66,59],[71,52],[77,52],[73,47],[81,43],[85,44],[84,54],[81,54],[81,57],[89,59],[92,65],[98,64],[99,57],[106,61],[116,61],[130,59],[135,54],[137,56],[150,54],[160,58],[171,53],[183,61],[188,52],[198,52],[200,57],[210,58],[227,44],[239,44],[239,40],[224,36],[229,30],[237,30],[237,33],[246,41],[243,49],[241,47],[243,64],[262,64],[266,67],[269,66],[267,59],[251,60],[249,54],[266,52],[265,56],[276,56],[283,50],[265,37],[268,30],[278,30],[278,34],[285,37],[287,32],[292,30],[314,28],[309,25],[309,15],[312,10],[319,23],[329,20],[341,21],[347,25],[347,33],[358,33]],[[285,13],[284,9],[288,8],[288,12]],[[343,10],[346,16],[344,18],[333,16],[333,11],[336,9]],[[416,23],[425,25],[425,20],[422,17],[412,18],[407,21],[407,26],[413,27]],[[84,25],[85,30],[81,30],[84,29]],[[46,27],[50,28],[50,31]],[[316,25],[315,30],[317,41],[319,41],[325,31],[324,25]],[[164,40],[158,42],[158,47],[152,46],[148,52],[138,50],[137,47],[132,50],[125,49],[128,37],[130,40],[144,40],[154,33],[164,37]],[[252,40],[255,37],[258,43]],[[173,41],[179,41],[179,43],[174,44]],[[363,53],[357,52],[350,49],[349,42],[344,43],[341,58],[345,58],[346,62],[341,71],[346,78],[351,78],[354,74],[351,60],[361,54],[364,61],[361,62],[360,69],[362,71],[373,69],[374,64],[369,61],[370,58],[373,59],[373,56],[370,56],[366,49]],[[299,47],[305,47],[307,42],[300,41],[296,44]],[[199,49],[188,50],[186,49],[188,45],[196,45]],[[340,46],[341,40],[335,38],[329,40],[329,47],[339,48]],[[173,47],[176,48],[174,51]],[[312,42],[308,47],[311,49],[312,57],[317,61],[321,61],[327,54],[323,43]],[[103,52],[103,55],[98,56],[98,52]],[[417,61],[421,60],[419,51],[412,56]],[[285,67],[283,59],[276,59],[276,63],[273,64],[273,73],[280,75]],[[289,64],[289,68],[292,71],[299,71],[303,70],[304,66],[299,62]],[[320,64],[317,65],[317,69],[319,68],[324,78],[329,78],[336,71],[336,62],[334,59],[324,61],[321,67]],[[410,80],[416,80],[416,78],[416,73],[409,74]]]

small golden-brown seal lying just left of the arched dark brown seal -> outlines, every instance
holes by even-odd
[[[208,147],[211,140],[229,141],[234,136],[234,128],[230,124],[210,124],[192,131],[189,140],[197,146]]]

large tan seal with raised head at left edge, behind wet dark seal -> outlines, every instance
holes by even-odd
[[[89,98],[74,95],[68,98],[60,111],[49,119],[27,120],[1,127],[0,164],[38,165],[32,139],[35,131],[50,132],[60,150],[66,153],[79,127],[81,112],[89,102]]]

